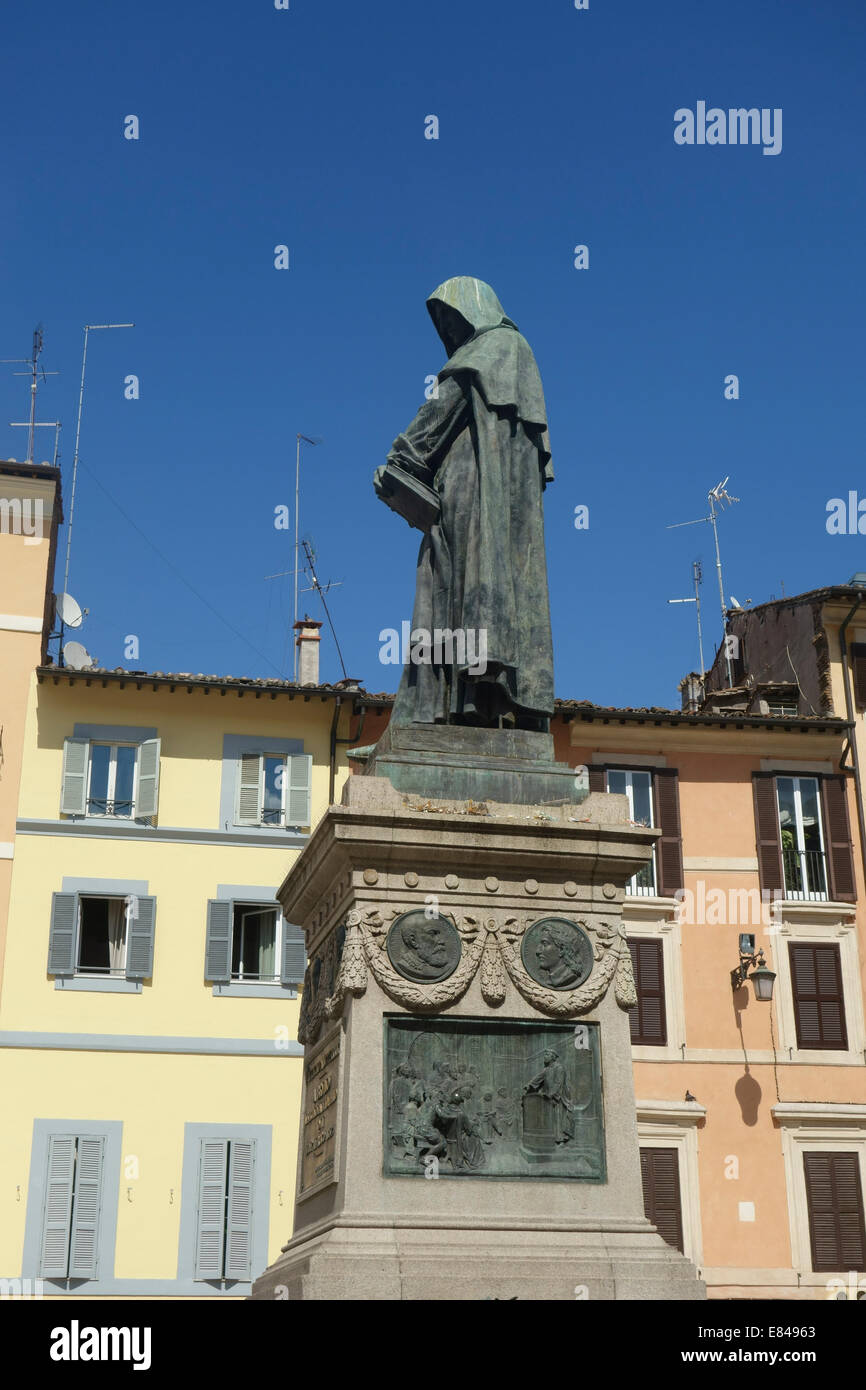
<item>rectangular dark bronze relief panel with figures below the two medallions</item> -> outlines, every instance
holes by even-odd
[[[385,1176],[606,1180],[598,1023],[384,1023]]]

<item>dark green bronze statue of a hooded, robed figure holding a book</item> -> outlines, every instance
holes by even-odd
[[[541,377],[484,281],[446,279],[427,307],[448,361],[432,399],[374,477],[391,505],[391,468],[430,489],[432,503],[418,553],[413,653],[391,723],[546,733],[553,644],[542,492],[553,468]],[[439,646],[436,630],[445,634]],[[432,644],[425,649],[424,638]]]

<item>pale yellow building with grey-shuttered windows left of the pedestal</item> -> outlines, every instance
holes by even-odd
[[[4,674],[0,1293],[240,1297],[289,1234],[304,951],[275,890],[360,727],[309,680],[317,627],[303,687],[36,670],[38,637]]]

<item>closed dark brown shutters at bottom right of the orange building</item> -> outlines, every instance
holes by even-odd
[[[812,1269],[866,1269],[863,1191],[856,1154],[803,1154]]]

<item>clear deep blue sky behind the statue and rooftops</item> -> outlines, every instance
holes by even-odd
[[[291,581],[265,575],[293,563],[274,509],[303,431],[302,534],[342,580],[346,669],[396,687],[378,634],[411,616],[418,535],[371,474],[443,361],[424,300],[460,274],[493,285],[545,385],[557,695],[678,703],[694,606],[667,599],[696,557],[708,659],[720,613],[709,527],[664,527],[726,474],[728,595],[866,570],[859,535],[826,531],[830,498],[866,496],[860,0],[49,0],[4,40],[0,356],[42,321],[67,512],[83,324],[136,324],[88,361],[70,589],[100,664],[286,674]],[[676,145],[699,100],[781,107],[781,153]],[[0,453],[22,459],[14,370]]]

